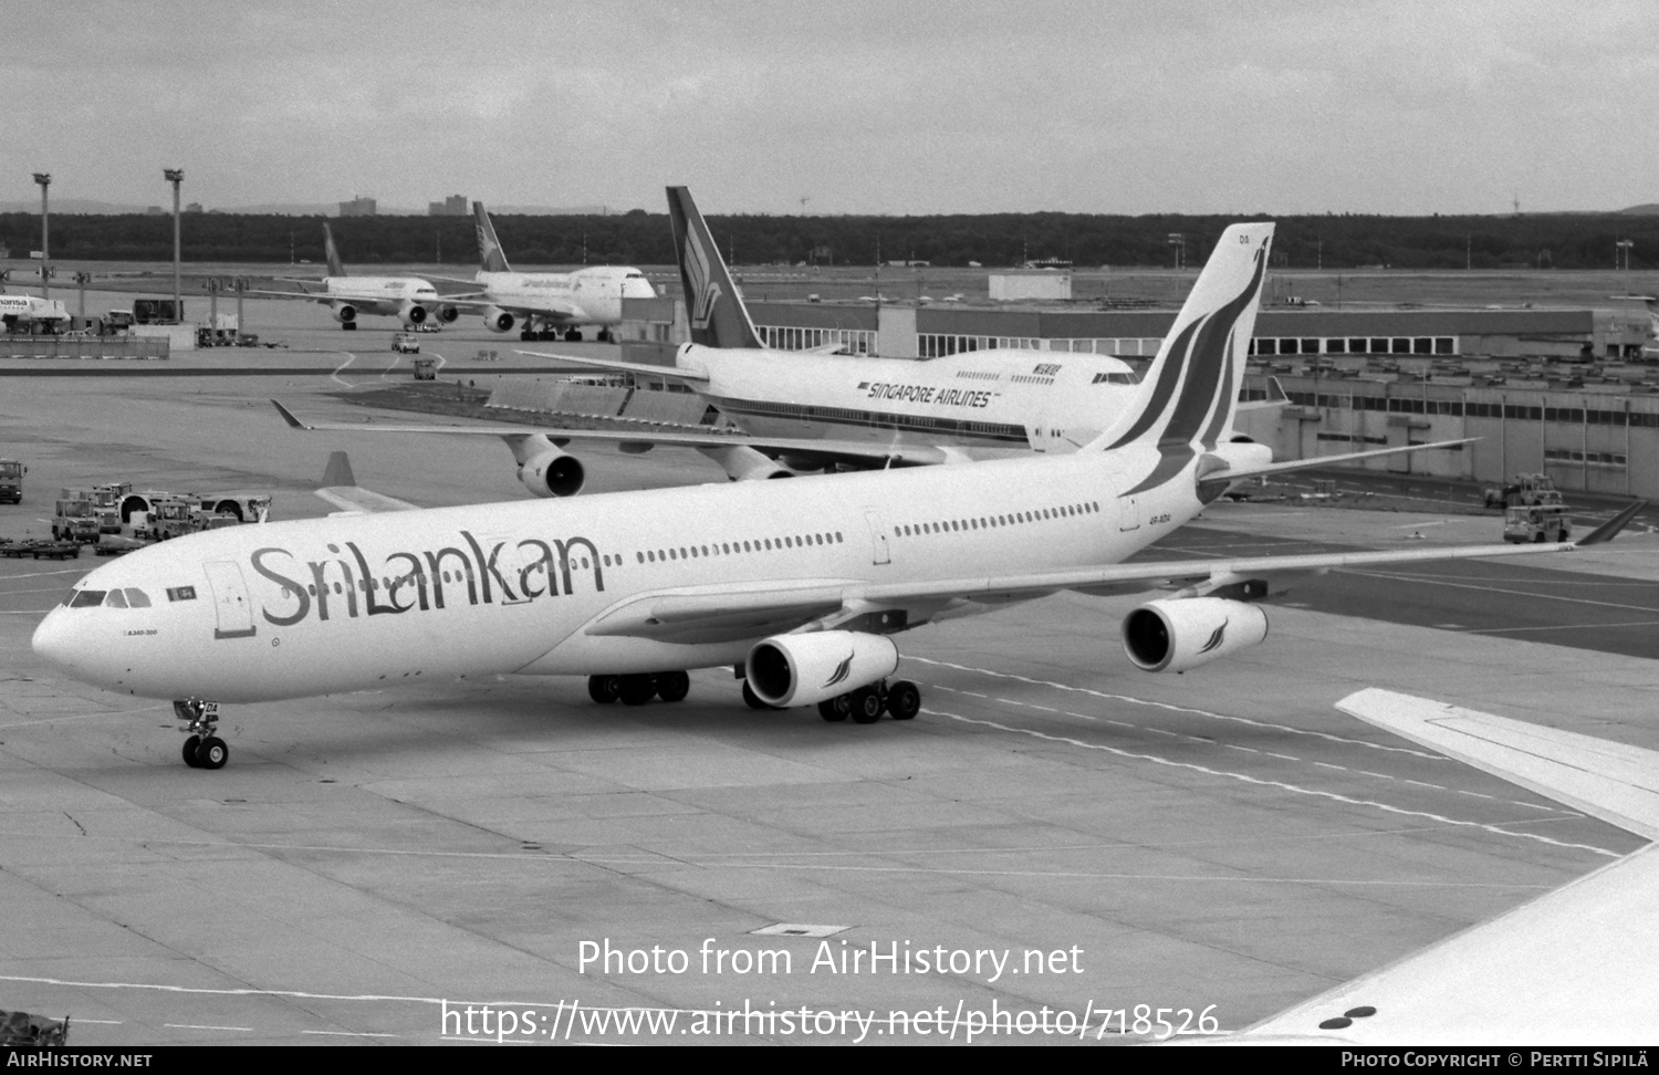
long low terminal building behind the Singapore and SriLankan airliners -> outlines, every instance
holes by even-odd
[[[781,350],[927,360],[1027,348],[1113,355],[1143,368],[1175,310],[752,302]],[[675,299],[630,300],[624,358],[672,363]],[[1618,310],[1262,310],[1246,392],[1276,377],[1291,405],[1246,415],[1276,458],[1478,438],[1367,469],[1498,483],[1548,473],[1563,489],[1659,496],[1659,363],[1646,315]]]

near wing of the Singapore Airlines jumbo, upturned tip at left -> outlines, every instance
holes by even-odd
[[[939,463],[961,463],[975,458],[990,458],[995,450],[962,450],[941,448],[936,445],[878,445],[871,441],[836,441],[806,438],[755,438],[728,433],[665,431],[665,430],[557,430],[538,426],[483,426],[483,425],[420,425],[375,421],[353,425],[347,421],[307,423],[294,416],[294,411],[275,400],[270,401],[282,420],[295,430],[315,431],[348,431],[348,433],[441,433],[450,436],[533,436],[541,435],[556,446],[564,448],[571,441],[594,441],[615,445],[627,453],[650,451],[655,446],[695,448],[710,456],[730,450],[752,450],[763,455],[811,456],[815,460],[833,460],[863,468],[881,466],[936,466]],[[1007,453],[1004,453],[1007,455]],[[718,461],[718,460],[717,460]]]

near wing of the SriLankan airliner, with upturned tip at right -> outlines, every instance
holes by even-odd
[[[1073,567],[1029,574],[971,579],[909,582],[821,582],[790,581],[768,587],[765,582],[743,591],[707,591],[688,587],[644,594],[624,601],[584,630],[596,635],[630,635],[659,640],[717,640],[723,632],[742,627],[732,637],[750,637],[753,627],[768,630],[848,629],[866,620],[881,629],[884,615],[902,614],[902,622],[921,622],[949,615],[969,602],[997,604],[1027,601],[1063,589],[1090,594],[1135,594],[1161,586],[1183,587],[1176,596],[1261,596],[1272,582],[1286,577],[1321,574],[1337,567],[1374,567],[1422,561],[1485,559],[1498,556],[1536,556],[1573,552],[1583,546],[1609,541],[1646,506],[1637,501],[1596,528],[1579,541],[1553,544],[1450,546],[1438,549],[1312,552],[1306,556],[1261,556],[1231,561],[1163,561]],[[891,629],[891,627],[889,627]]]

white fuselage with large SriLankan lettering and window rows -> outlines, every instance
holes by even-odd
[[[778,627],[693,622],[642,637],[609,625],[640,615],[624,606],[667,592],[1117,562],[1201,508],[1188,479],[1120,498],[1156,458],[1125,448],[209,531],[88,574],[41,622],[35,650],[109,690],[226,702],[733,664]],[[108,591],[124,607],[93,604]],[[148,606],[133,607],[133,594]],[[896,607],[921,624],[997,606]]]

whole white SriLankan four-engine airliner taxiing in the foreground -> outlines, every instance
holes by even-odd
[[[916,685],[889,677],[894,639],[924,624],[1173,581],[1121,635],[1135,665],[1183,672],[1262,642],[1254,601],[1289,577],[1566,552],[1634,516],[1579,542],[1125,564],[1229,481],[1309,466],[1216,455],[1271,239],[1272,224],[1226,229],[1135,403],[1070,455],[204,531],[90,572],[33,647],[78,680],[171,698],[204,768],[229,753],[226,702],[433,677],[586,675],[596,702],[637,705],[725,665],[755,708],[868,723],[919,712]]]

